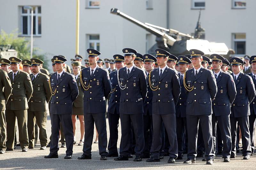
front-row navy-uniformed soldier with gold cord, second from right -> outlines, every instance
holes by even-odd
[[[180,80],[176,72],[169,68],[166,63],[169,52],[156,49],[156,58],[159,68],[149,74],[149,85],[153,92],[152,118],[153,118],[153,143],[151,158],[147,162],[160,161],[160,149],[162,146],[161,129],[162,123],[169,139],[168,163],[175,163],[178,156],[178,144],[176,136],[175,105],[180,95]]]

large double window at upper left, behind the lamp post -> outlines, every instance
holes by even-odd
[[[42,17],[41,6],[33,6],[33,35],[41,36],[42,33]],[[21,6],[21,35],[31,35],[31,10],[25,10]]]

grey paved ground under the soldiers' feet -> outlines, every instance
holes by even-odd
[[[77,129],[80,129],[79,124],[77,120]],[[50,136],[51,124],[49,116],[47,130],[47,134]],[[119,127],[118,146],[121,137],[120,131],[121,128]],[[80,132],[78,130],[77,132],[76,139],[79,140]],[[129,161],[114,161],[113,158],[108,158],[107,161],[100,161],[98,144],[92,144],[91,160],[78,160],[77,157],[82,155],[82,148],[83,146],[74,145],[73,158],[66,160],[63,159],[66,148],[60,148],[58,159],[44,159],[44,155],[49,154],[49,148],[41,151],[39,150],[39,143],[34,149],[25,153],[21,152],[20,147],[17,147],[13,152],[6,152],[4,155],[0,155],[0,169],[256,169],[256,156],[251,157],[249,160],[243,160],[241,153],[238,154],[236,159],[231,159],[230,163],[222,162],[223,159],[218,155],[214,165],[205,165],[205,162],[202,162],[201,159],[197,159],[196,164],[185,165],[183,161],[186,159],[186,155],[184,155],[183,160],[177,160],[175,164],[168,164],[168,157],[162,159],[161,162],[155,163],[148,163],[146,159],[143,159],[142,162],[133,162],[132,159],[129,159]]]

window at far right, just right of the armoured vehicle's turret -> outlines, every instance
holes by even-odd
[[[245,51],[245,40],[246,40],[245,33],[233,33],[232,40],[233,40],[232,48],[235,50],[236,55],[244,56],[246,53],[246,51]]]

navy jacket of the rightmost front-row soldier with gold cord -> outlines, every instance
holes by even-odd
[[[186,71],[185,83],[188,87],[194,86],[188,93],[187,115],[212,114],[212,100],[217,93],[216,79],[211,70],[201,67],[195,78],[194,68]]]

